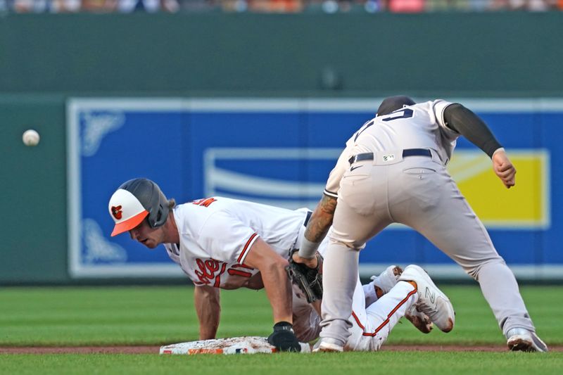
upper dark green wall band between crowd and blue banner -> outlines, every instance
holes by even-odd
[[[560,95],[562,34],[557,12],[10,15],[0,91]]]

